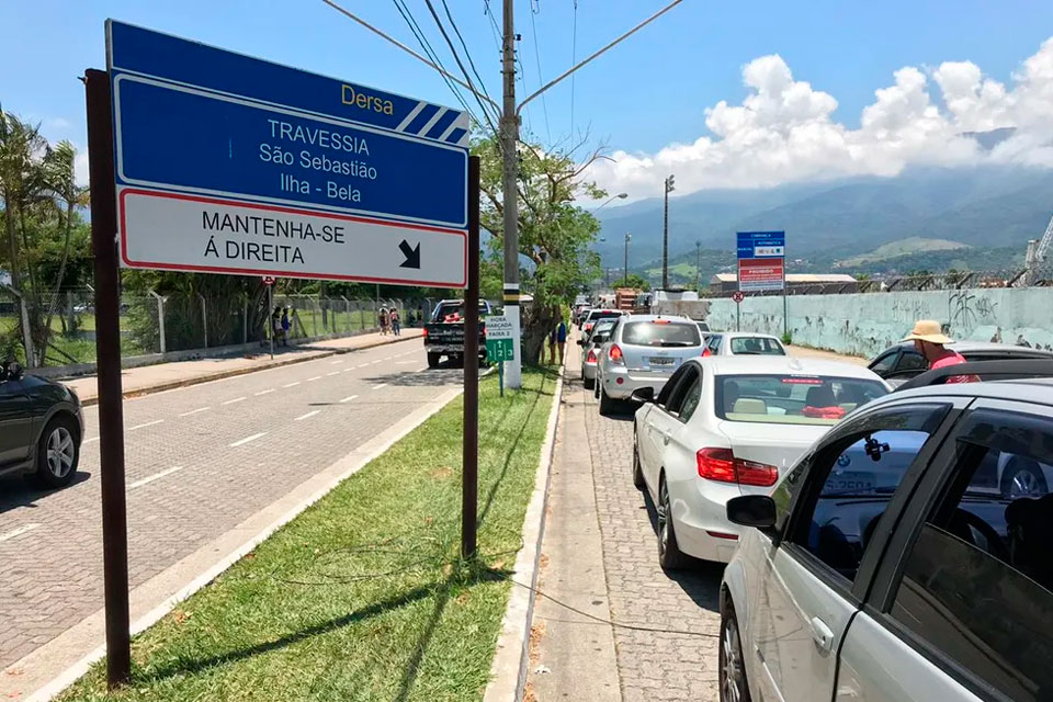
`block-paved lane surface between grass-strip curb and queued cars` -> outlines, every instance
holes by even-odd
[[[722,568],[667,575],[658,566],[654,506],[632,482],[632,417],[600,417],[577,380],[580,350],[568,348],[574,380],[564,389],[540,586],[619,625],[539,599],[533,702],[715,702]]]

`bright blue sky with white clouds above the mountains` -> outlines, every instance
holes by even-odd
[[[419,49],[394,0],[337,1]],[[488,3],[448,2],[487,93],[500,101]],[[406,4],[455,71],[423,0]],[[499,26],[500,0],[489,4]],[[520,98],[665,4],[516,0]],[[0,105],[83,150],[77,77],[104,67],[106,18],[457,104],[432,69],[321,0],[0,0]],[[1048,0],[683,0],[531,102],[523,132],[548,147],[582,137],[604,146],[612,160],[589,177],[627,193],[625,202],[660,194],[669,173],[686,194],[894,176],[912,165],[1049,168],[1051,37]],[[998,127],[1014,132],[994,149],[963,136]],[[86,165],[81,154],[82,178]]]

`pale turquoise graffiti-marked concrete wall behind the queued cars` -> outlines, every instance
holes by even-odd
[[[1053,288],[973,288],[856,295],[791,295],[793,342],[872,356],[906,336],[916,319],[937,319],[954,339],[1053,350]],[[712,301],[713,329],[735,329],[735,303]],[[744,331],[782,335],[782,297],[747,297]]]

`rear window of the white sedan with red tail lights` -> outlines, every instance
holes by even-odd
[[[716,380],[716,416],[727,421],[835,424],[888,392],[878,381],[854,377],[772,374]]]

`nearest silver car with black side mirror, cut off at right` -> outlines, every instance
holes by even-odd
[[[962,366],[967,367],[967,366]],[[746,530],[721,585],[724,702],[1039,701],[1053,694],[1053,383],[886,395],[830,430]]]

